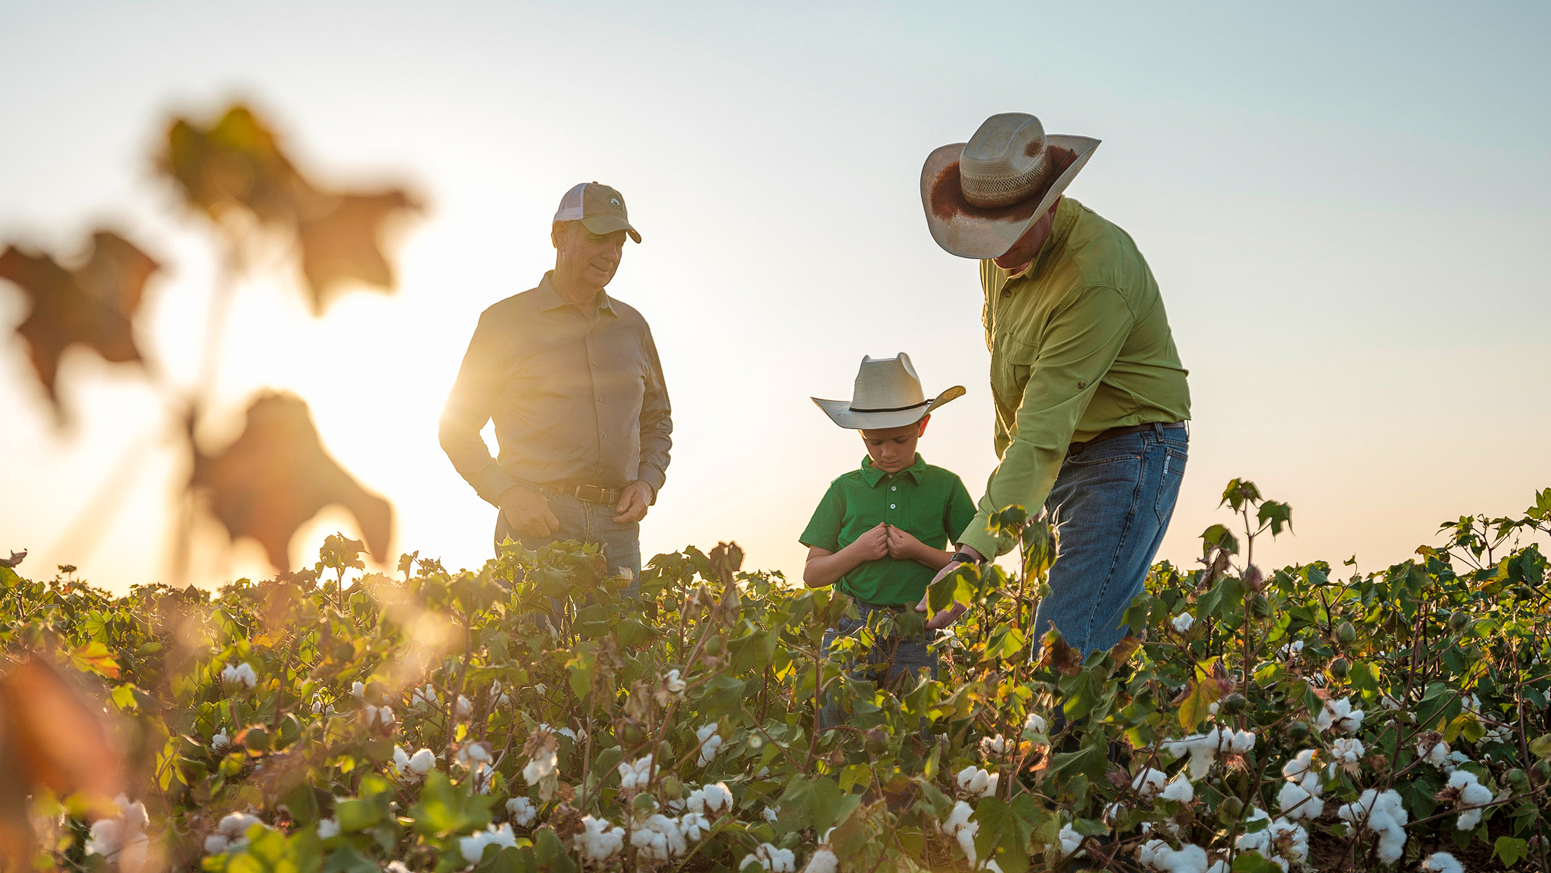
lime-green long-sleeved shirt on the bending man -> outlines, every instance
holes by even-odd
[[[1148,262],[1126,231],[1070,197],[1027,270],[982,261],[980,285],[1000,462],[959,541],[990,557],[1013,547],[986,530],[990,513],[1039,512],[1072,442],[1182,422],[1190,386]]]

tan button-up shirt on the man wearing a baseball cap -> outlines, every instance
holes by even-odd
[[[442,450],[481,498],[518,481],[662,488],[673,440],[651,330],[606,293],[586,310],[552,273],[479,316],[442,412]],[[499,459],[479,431],[495,420]]]

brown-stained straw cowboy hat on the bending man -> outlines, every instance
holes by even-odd
[[[1045,133],[1022,112],[986,118],[968,143],[943,146],[921,167],[932,239],[959,257],[999,257],[1061,197],[1098,140]]]

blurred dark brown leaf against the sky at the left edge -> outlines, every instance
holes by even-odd
[[[158,270],[149,254],[112,231],[92,234],[92,248],[79,267],[67,270],[47,253],[14,245],[0,253],[0,279],[14,282],[31,301],[16,332],[26,340],[37,380],[62,416],[59,357],[81,343],[113,363],[140,361],[133,319],[146,279]]]

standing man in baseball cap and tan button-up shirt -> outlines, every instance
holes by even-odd
[[[617,191],[566,192],[549,229],[555,268],[479,316],[440,439],[499,507],[498,552],[509,537],[599,543],[639,580],[639,521],[662,488],[673,420],[647,321],[603,292],[627,237],[641,242]],[[492,419],[499,459],[479,436]]]

